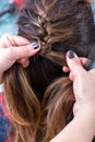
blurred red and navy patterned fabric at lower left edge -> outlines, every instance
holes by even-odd
[[[0,142],[13,142],[13,127],[5,108],[4,94],[0,94]]]

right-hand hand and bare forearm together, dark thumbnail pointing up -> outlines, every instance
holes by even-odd
[[[92,142],[95,134],[95,69],[86,71],[75,54],[67,54],[75,104],[73,120],[50,142]],[[70,55],[73,55],[70,57]]]

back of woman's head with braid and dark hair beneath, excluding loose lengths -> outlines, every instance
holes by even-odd
[[[21,10],[17,23],[19,35],[41,45],[41,51],[31,59],[36,91],[43,91],[44,86],[46,90],[50,82],[63,75],[61,67],[68,50],[87,56],[95,42],[91,5],[83,0],[29,0]]]

